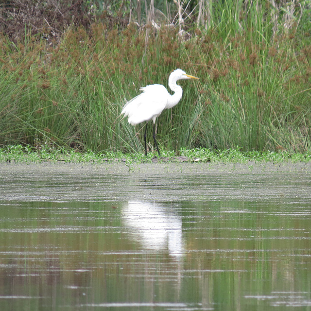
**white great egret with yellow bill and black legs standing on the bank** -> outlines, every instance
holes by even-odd
[[[142,93],[128,101],[121,111],[121,114],[124,114],[124,117],[128,116],[128,122],[132,125],[147,121],[144,134],[145,155],[147,155],[147,125],[148,121],[152,120],[154,122],[153,138],[155,140],[156,150],[160,156],[159,148],[155,139],[155,119],[164,109],[172,108],[180,101],[183,95],[183,89],[181,86],[177,85],[176,82],[181,79],[199,78],[190,76],[181,69],[176,69],[169,77],[169,86],[174,92],[173,95],[167,91],[165,86],[160,84],[140,87]]]

